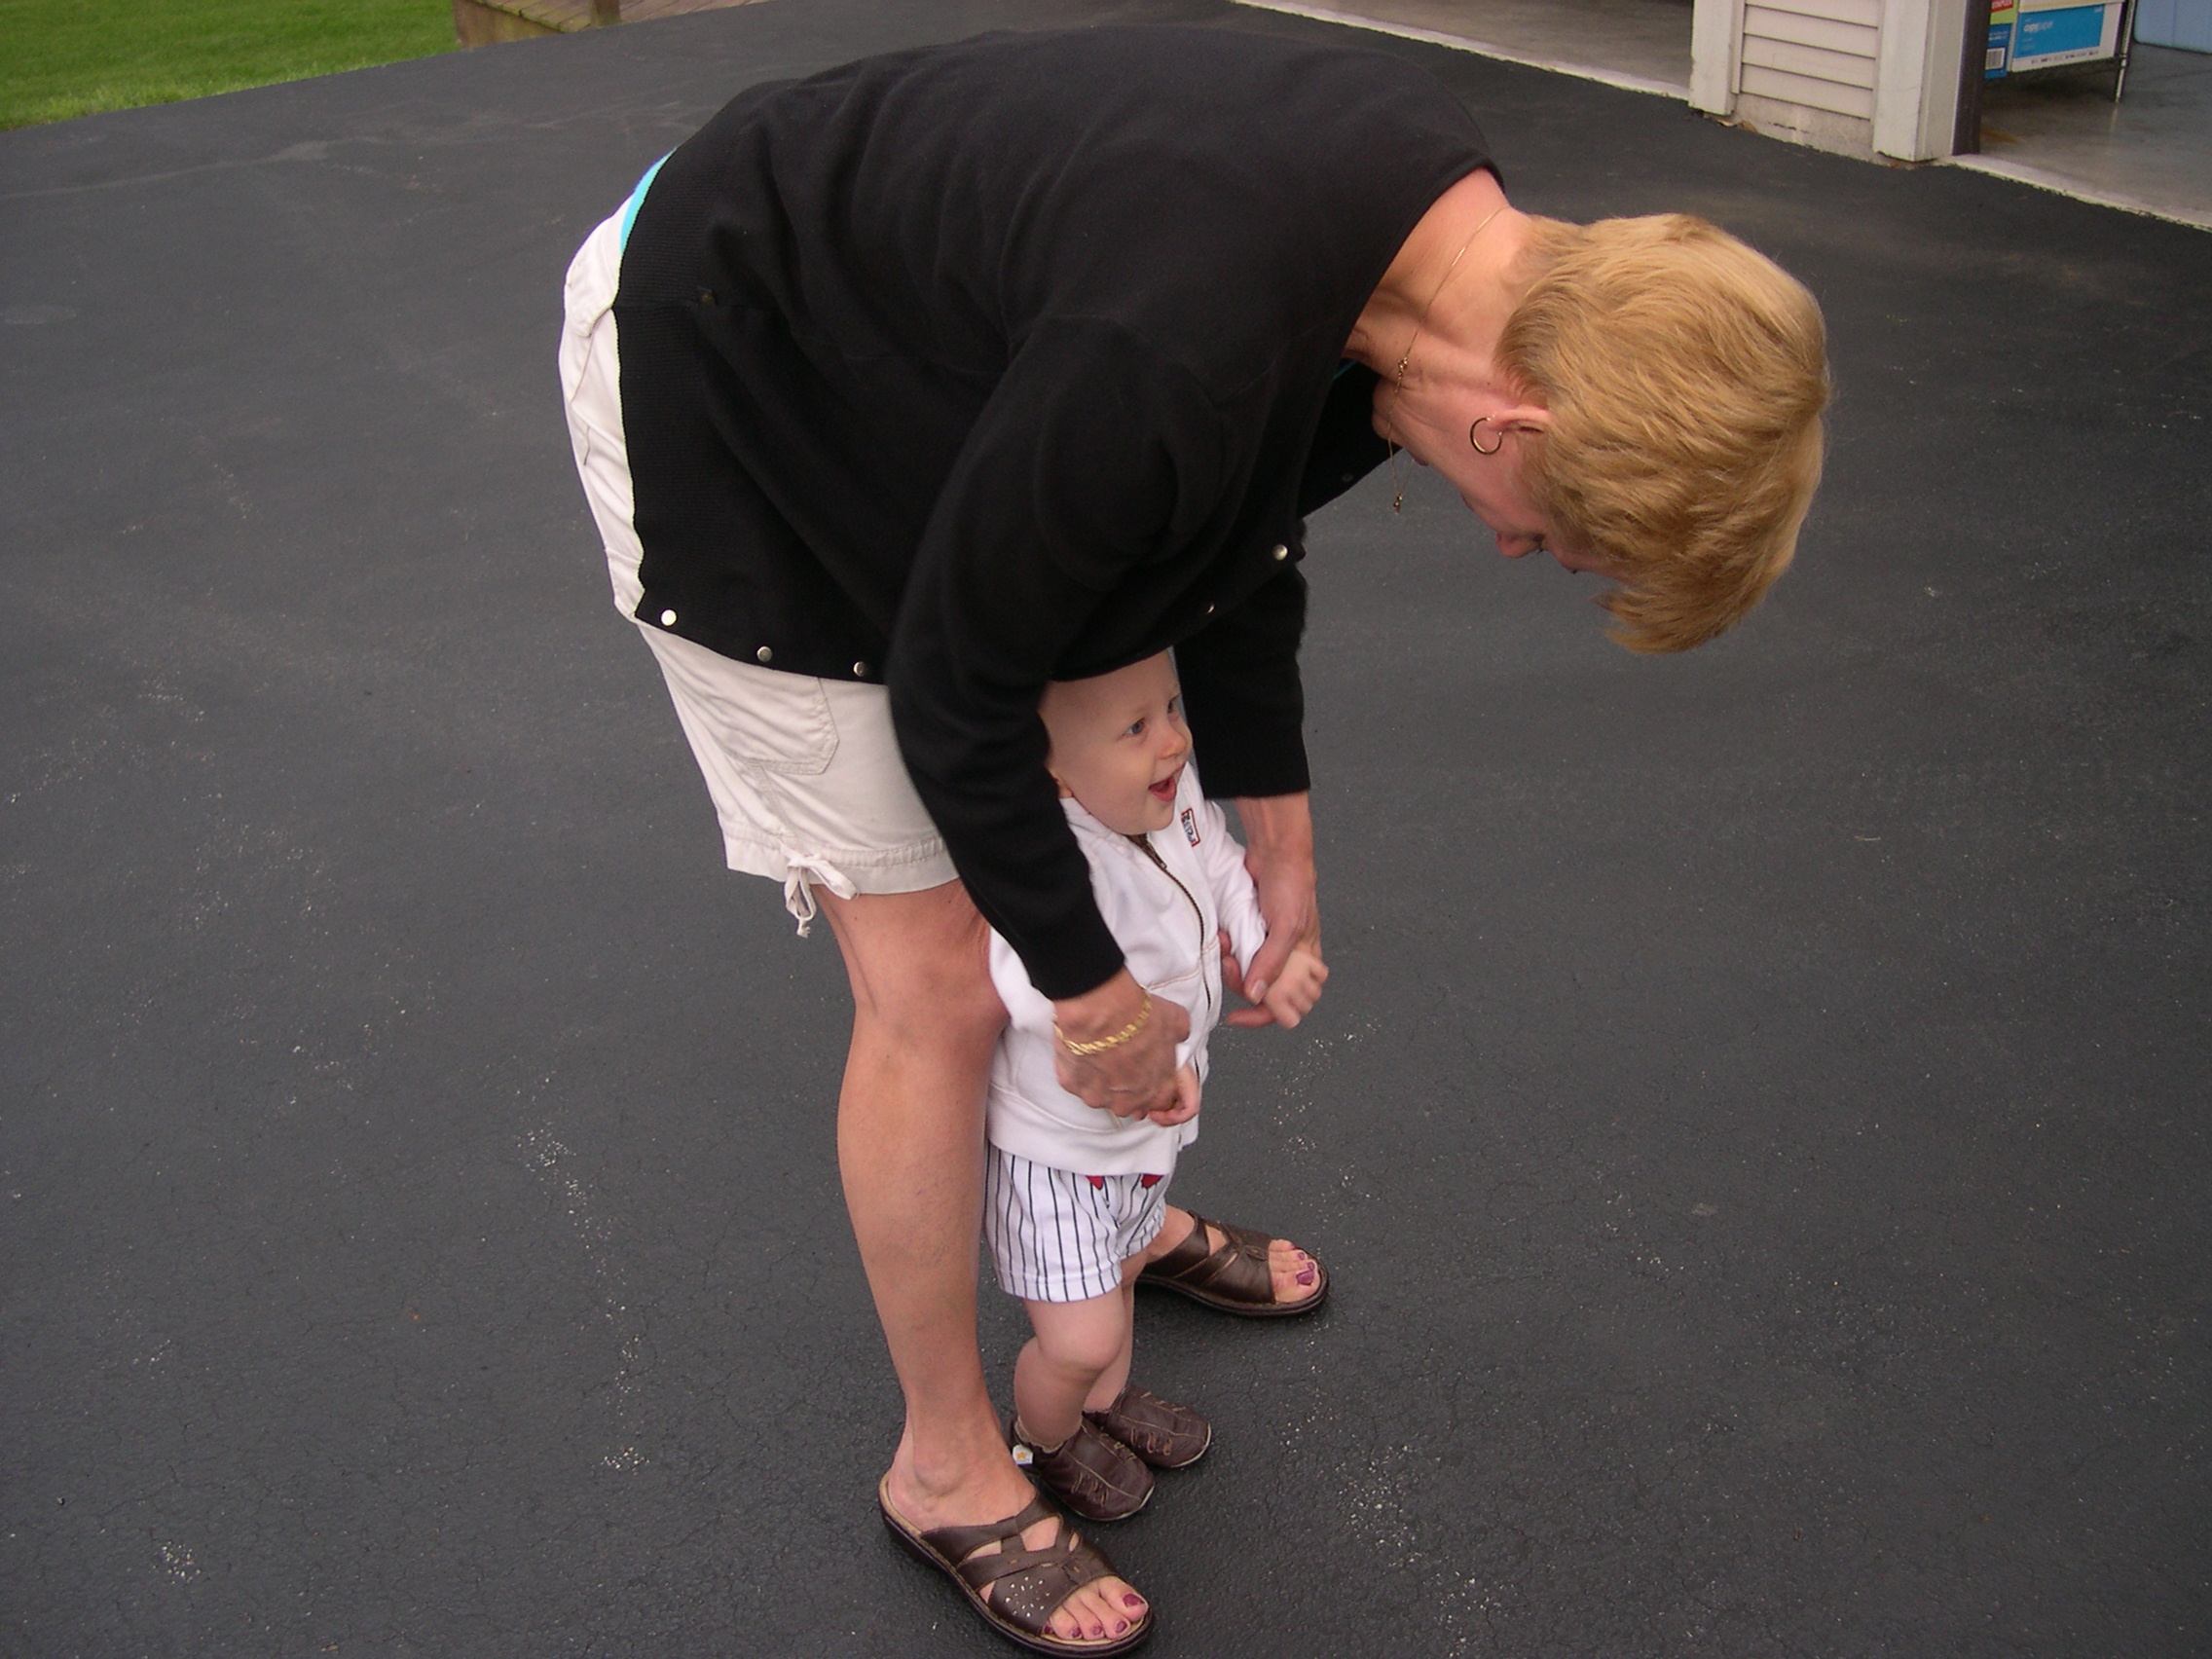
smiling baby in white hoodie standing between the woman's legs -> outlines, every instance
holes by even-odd
[[[1175,666],[1159,655],[1055,681],[1040,712],[1099,914],[1137,982],[1190,1013],[1177,1060],[1183,1099],[1197,1102],[1221,1018],[1221,933],[1250,967],[1267,927],[1243,847],[1188,763]],[[1316,956],[1292,951],[1267,1011],[1298,1024],[1327,975]],[[998,933],[991,980],[1009,1024],[991,1062],[984,1237],[998,1283],[1026,1303],[1035,1332],[1013,1367],[1013,1458],[1077,1515],[1119,1520],[1152,1495],[1152,1469],[1197,1462],[1212,1438],[1197,1411],[1128,1380],[1137,1274],[1168,1254],[1168,1177],[1197,1139],[1197,1106],[1148,1117],[1086,1106],[1055,1075],[1053,1004]]]

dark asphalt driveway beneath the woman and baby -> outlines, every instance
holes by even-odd
[[[0,1652],[1000,1650],[876,1526],[836,951],[553,343],[739,86],[1135,15],[1323,33],[770,0],[0,135]],[[1812,283],[1834,449],[1668,661],[1429,478],[1314,522],[1334,978],[1181,1194],[1336,1294],[1146,1303],[1152,1652],[2212,1650],[2212,237],[1365,40]]]

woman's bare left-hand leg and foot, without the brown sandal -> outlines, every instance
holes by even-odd
[[[1006,1009],[989,929],[960,883],[920,894],[816,891],[852,978],[838,1168],[876,1318],[907,1396],[891,1506],[918,1531],[975,1526],[1035,1491],[1006,1455],[975,1349],[982,1095]],[[1033,1548],[1057,1522],[1029,1528]],[[1099,1639],[1144,1613],[1121,1579],[1084,1586],[1057,1635]]]

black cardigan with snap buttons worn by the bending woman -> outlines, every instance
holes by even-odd
[[[637,619],[883,681],[978,909],[1046,995],[1102,984],[1040,690],[1172,646],[1208,792],[1307,787],[1303,513],[1385,453],[1343,345],[1478,166],[1402,58],[1212,29],[739,95],[622,261]]]

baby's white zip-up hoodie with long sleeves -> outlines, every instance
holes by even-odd
[[[1250,967],[1267,938],[1243,847],[1221,807],[1199,792],[1194,765],[1175,787],[1175,821],[1141,841],[1108,830],[1077,801],[1060,805],[1128,971],[1155,1002],[1168,998],[1190,1013],[1190,1037],[1175,1057],[1203,1084],[1206,1037],[1221,1020],[1221,929],[1239,967]],[[1084,1106],[1053,1071],[1053,1004],[995,931],[991,982],[1009,1015],[991,1060],[991,1146],[1075,1175],[1172,1175],[1175,1155],[1199,1137],[1199,1119],[1161,1126]]]

